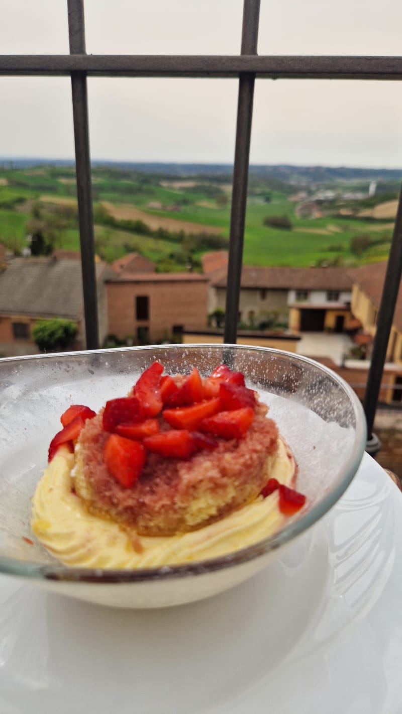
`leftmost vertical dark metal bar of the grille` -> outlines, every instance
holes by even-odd
[[[70,54],[85,54],[84,0],[67,0]],[[71,73],[86,349],[99,347],[86,74]]]

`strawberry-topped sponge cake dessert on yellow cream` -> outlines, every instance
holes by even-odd
[[[303,507],[291,451],[243,374],[163,371],[153,363],[98,414],[73,405],[61,416],[32,530],[62,562],[211,558],[267,537]]]

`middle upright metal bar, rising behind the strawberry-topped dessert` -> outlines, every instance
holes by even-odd
[[[241,54],[257,53],[259,11],[260,0],[244,0]],[[231,231],[226,283],[225,333],[223,337],[223,341],[226,343],[236,343],[237,340],[255,79],[255,74],[242,74],[238,81],[236,148],[233,166]]]

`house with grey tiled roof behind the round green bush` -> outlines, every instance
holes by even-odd
[[[99,333],[107,332],[105,278],[109,266],[96,261]],[[77,323],[74,348],[85,349],[81,261],[74,258],[14,258],[0,273],[0,353],[38,352],[32,328],[39,319],[66,318]]]

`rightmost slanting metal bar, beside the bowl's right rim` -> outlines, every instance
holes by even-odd
[[[366,390],[363,399],[363,408],[366,413],[368,441],[373,436],[373,423],[376,416],[378,394],[381,388],[386,351],[391,333],[393,313],[396,298],[401,283],[402,275],[402,188],[399,194],[398,211],[393,228],[391,248],[386,267],[386,276],[383,284],[380,308],[377,316],[377,330],[373,343],[371,365],[368,371]],[[377,450],[378,451],[378,450]]]

